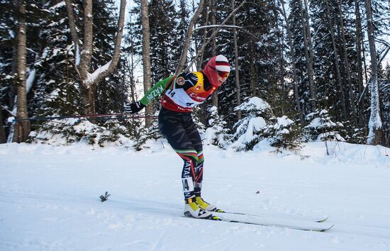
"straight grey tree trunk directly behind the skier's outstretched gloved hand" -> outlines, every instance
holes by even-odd
[[[141,1],[141,16],[143,26],[143,91],[146,93],[152,87],[151,79],[152,72],[150,69],[150,26],[149,14],[147,10],[147,0]],[[151,116],[153,113],[153,106],[146,106],[145,115]],[[145,119],[146,127],[152,125],[151,118]]]

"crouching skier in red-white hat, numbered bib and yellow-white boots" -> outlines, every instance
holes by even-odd
[[[203,147],[191,111],[202,104],[226,81],[230,64],[223,55],[212,57],[202,72],[183,72],[157,82],[140,101],[125,106],[126,113],[138,113],[156,96],[165,91],[158,116],[159,128],[169,145],[184,160],[182,183],[184,215],[194,218],[212,218],[216,206],[201,197],[203,179]]]

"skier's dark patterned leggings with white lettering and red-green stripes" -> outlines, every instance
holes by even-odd
[[[204,156],[201,136],[192,121],[191,113],[161,108],[158,123],[169,145],[184,160],[182,171],[184,199],[200,196]]]

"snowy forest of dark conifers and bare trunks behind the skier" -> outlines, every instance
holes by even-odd
[[[0,143],[128,138],[142,149],[161,137],[152,117],[159,101],[145,120],[123,114],[123,104],[223,54],[230,77],[194,112],[201,131],[213,130],[209,143],[390,146],[389,1],[127,4],[0,0]],[[60,118],[40,119],[48,117]]]

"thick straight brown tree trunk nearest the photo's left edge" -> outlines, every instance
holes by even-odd
[[[26,0],[18,1],[18,88],[16,124],[13,132],[13,142],[21,143],[30,134],[30,121],[27,119],[27,90],[26,90]]]

